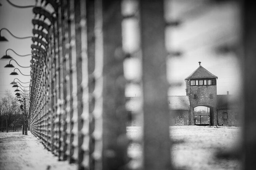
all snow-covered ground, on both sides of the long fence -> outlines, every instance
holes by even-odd
[[[216,158],[217,151],[231,149],[240,138],[240,128],[208,128],[199,126],[170,127],[173,140],[172,163],[177,169],[184,170],[228,170],[240,169],[240,163],[233,159]],[[141,136],[140,127],[127,127],[130,139]],[[141,147],[130,144],[128,154],[141,156]],[[75,164],[58,161],[46,150],[40,140],[22,132],[0,133],[0,169],[1,170],[72,170]]]

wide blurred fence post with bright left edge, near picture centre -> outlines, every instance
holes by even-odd
[[[117,170],[127,160],[121,1],[95,3],[95,169]]]

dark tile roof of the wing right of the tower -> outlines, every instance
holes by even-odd
[[[217,109],[235,109],[237,102],[233,95],[217,95]]]

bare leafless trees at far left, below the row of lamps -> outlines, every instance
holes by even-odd
[[[23,114],[20,109],[21,103],[18,102],[10,91],[5,92],[5,97],[0,100],[0,128],[1,132],[7,127],[12,127],[16,131],[16,127],[21,127],[24,122]],[[7,121],[6,121],[7,120]]]

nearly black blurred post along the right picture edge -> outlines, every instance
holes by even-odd
[[[244,92],[244,169],[256,168],[256,2],[245,0],[242,4],[243,26],[243,92]]]

